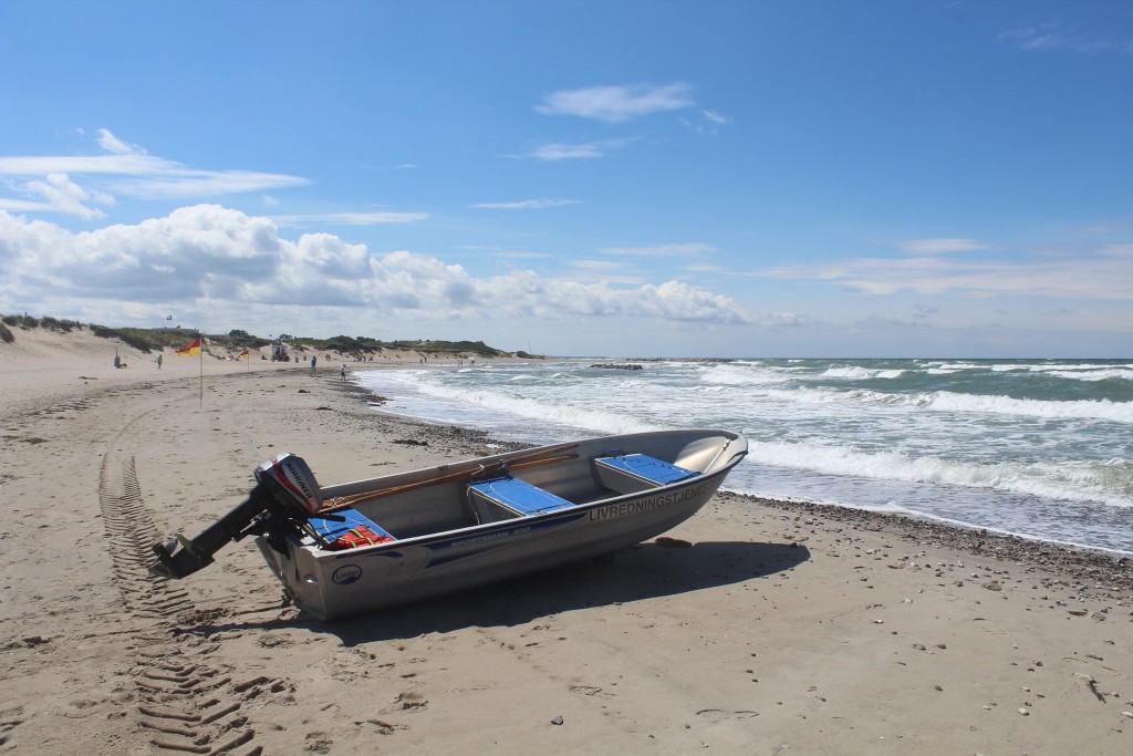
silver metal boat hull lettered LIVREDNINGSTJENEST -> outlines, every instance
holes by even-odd
[[[706,443],[706,440],[712,442]],[[683,461],[695,475],[675,483],[628,494],[598,495],[593,501],[535,516],[459,527],[381,545],[332,552],[299,536],[290,536],[286,553],[261,538],[259,547],[272,571],[304,610],[333,620],[411,601],[442,595],[512,578],[588,558],[659,535],[695,515],[724,482],[727,473],[747,451],[738,434],[715,432],[666,432],[610,436],[577,444],[569,462],[547,465],[536,479],[551,486],[556,479],[576,482],[570,491],[582,491],[579,470],[590,470],[593,459],[611,448],[644,450],[665,461]],[[548,448],[554,450],[555,448]],[[682,457],[682,451],[685,453]],[[530,457],[539,450],[522,453]],[[514,457],[503,455],[488,460]],[[484,461],[484,460],[482,460]],[[446,468],[406,476],[351,484],[342,490],[375,485],[382,481],[427,479]],[[404,485],[401,483],[401,485]],[[565,484],[564,484],[565,485]],[[570,486],[568,486],[570,487]],[[432,495],[446,493],[449,484]],[[459,485],[457,489],[459,491]],[[335,493],[335,489],[324,490]],[[416,491],[420,506],[429,492]]]

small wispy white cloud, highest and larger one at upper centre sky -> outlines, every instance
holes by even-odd
[[[593,86],[552,92],[535,110],[546,116],[578,116],[617,124],[656,112],[690,108],[696,104],[691,93],[692,87],[683,83]]]

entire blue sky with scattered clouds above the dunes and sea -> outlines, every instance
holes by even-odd
[[[1133,3],[0,0],[0,312],[1133,355]]]

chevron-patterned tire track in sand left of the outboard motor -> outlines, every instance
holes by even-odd
[[[131,615],[153,621],[136,637],[142,651],[131,670],[135,721],[152,733],[155,754],[259,756],[263,748],[253,742],[256,732],[241,710],[264,680],[233,683],[225,670],[199,661],[207,653],[179,646],[177,618],[191,621],[201,611],[178,584],[148,571],[155,559],[151,546],[162,536],[142,496],[134,457],[121,449],[125,435],[126,430],[103,457],[99,501],[122,602]]]

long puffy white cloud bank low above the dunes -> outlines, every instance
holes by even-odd
[[[71,233],[0,212],[0,312],[35,301],[76,307],[122,303],[121,312],[177,305],[227,317],[278,308],[338,307],[363,314],[482,320],[630,315],[739,323],[749,316],[730,297],[676,281],[634,288],[548,280],[514,270],[477,278],[427,255],[374,255],[330,233],[283,238],[269,218],[219,205],[180,207],[165,218]],[[228,314],[224,314],[228,311]],[[56,311],[58,312],[58,311]],[[71,313],[59,313],[71,316]],[[84,316],[85,317],[85,316]]]

